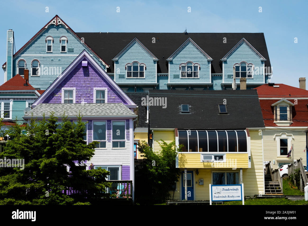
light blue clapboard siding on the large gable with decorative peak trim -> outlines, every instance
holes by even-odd
[[[46,37],[52,36],[54,38],[54,42],[52,44],[52,53],[46,52]],[[67,37],[67,50],[68,48],[73,48],[73,53],[61,53],[60,50],[60,37]],[[84,40],[86,42],[86,40]],[[25,50],[22,51],[17,57],[13,59],[13,75],[18,73],[17,70],[17,62],[19,59],[24,59],[27,64],[27,68],[29,69],[29,83],[34,88],[47,89],[47,87],[53,82],[59,74],[65,70],[72,61],[84,50],[86,49],[83,44],[76,39],[63,25],[51,25],[49,26],[34,42],[32,42]],[[89,51],[87,51],[90,53]],[[30,56],[29,56],[30,55]],[[91,54],[90,54],[91,55]],[[93,55],[91,55],[93,56]],[[95,61],[105,69],[105,66],[97,59],[93,57]],[[40,61],[41,68],[45,68],[44,72],[40,71],[40,76],[34,77],[31,75],[31,62],[32,60],[37,59]],[[53,59],[53,60],[52,60]],[[60,60],[59,60],[60,59]],[[58,69],[55,73],[47,73],[47,68],[49,67]],[[9,79],[8,75],[8,79]]]

